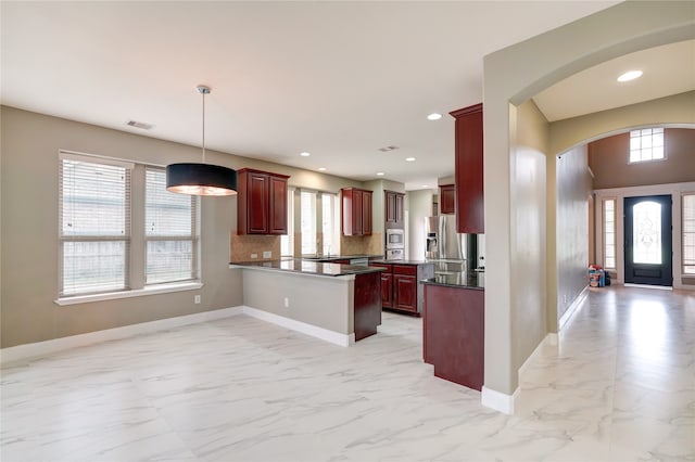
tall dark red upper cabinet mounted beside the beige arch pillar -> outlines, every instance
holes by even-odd
[[[456,231],[484,230],[482,103],[450,113],[456,119]]]

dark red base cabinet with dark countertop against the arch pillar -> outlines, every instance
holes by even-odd
[[[422,354],[434,375],[482,389],[484,377],[484,272],[437,274],[425,284]]]

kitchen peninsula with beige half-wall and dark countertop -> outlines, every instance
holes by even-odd
[[[233,262],[244,312],[349,346],[381,324],[381,268],[288,258]]]

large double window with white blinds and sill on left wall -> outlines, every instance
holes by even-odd
[[[200,200],[162,167],[61,152],[59,176],[59,305],[201,286]]]

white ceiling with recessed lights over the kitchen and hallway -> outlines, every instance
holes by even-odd
[[[359,181],[383,171],[407,190],[433,187],[454,171],[447,113],[482,100],[482,57],[615,3],[5,0],[1,102],[200,145],[195,86],[203,84],[212,87],[208,149]],[[657,66],[669,81],[660,93],[642,92],[637,81],[634,94],[606,98],[617,91],[603,82],[632,65],[621,62],[536,101],[555,120],[694,88],[691,74],[671,91],[671,61]],[[444,117],[429,121],[431,112]],[[388,145],[399,149],[379,151]]]

